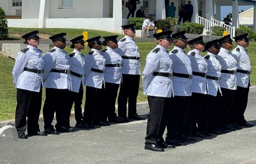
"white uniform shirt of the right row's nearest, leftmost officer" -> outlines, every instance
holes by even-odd
[[[167,50],[157,45],[146,57],[142,73],[142,86],[145,95],[171,97],[172,77],[152,75],[154,72],[172,73],[172,61]]]

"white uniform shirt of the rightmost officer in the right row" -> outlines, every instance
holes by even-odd
[[[248,52],[244,47],[237,46],[232,50],[232,55],[235,58],[237,69],[252,71],[251,62]],[[250,74],[236,72],[237,85],[240,87],[248,87],[250,81]]]

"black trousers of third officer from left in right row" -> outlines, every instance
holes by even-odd
[[[203,102],[204,94],[192,93],[187,118],[184,126],[181,129],[181,134],[191,135],[191,133],[197,132],[196,123],[199,120]]]

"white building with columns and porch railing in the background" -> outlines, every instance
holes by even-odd
[[[140,1],[137,9],[140,5],[148,7],[149,14],[155,19],[164,19],[165,5],[174,2],[176,18],[179,18],[180,0]],[[191,21],[209,21],[208,24],[221,21],[221,6],[232,5],[233,26],[239,27],[238,5],[254,5],[255,9],[256,0],[191,0],[191,4],[194,7]],[[9,27],[95,29],[121,33],[121,25],[128,24],[126,17],[129,11],[126,7],[122,10],[121,0],[1,0],[0,6],[5,10],[7,18],[20,18],[8,19]]]

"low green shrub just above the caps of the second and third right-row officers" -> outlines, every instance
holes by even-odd
[[[185,30],[186,33],[200,35],[204,31],[204,26],[202,24],[197,24],[193,22],[185,22],[178,29],[178,31],[183,30]]]

